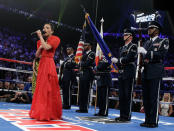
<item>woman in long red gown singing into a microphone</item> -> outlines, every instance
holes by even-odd
[[[40,47],[37,49],[36,57],[40,57],[40,62],[29,115],[36,120],[50,121],[62,117],[60,87],[53,59],[60,39],[52,35],[54,28],[50,23],[44,25],[43,31],[45,32],[43,36],[40,30],[36,31],[40,39],[37,44]]]

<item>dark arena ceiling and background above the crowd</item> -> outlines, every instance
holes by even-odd
[[[0,8],[0,26],[8,27],[16,32],[30,35],[31,32],[42,29],[46,19],[58,21],[75,28],[82,28],[84,13],[82,4],[89,12],[92,20],[100,29],[100,19],[104,18],[104,32],[121,33],[125,27],[137,26],[131,17],[134,11],[158,10],[161,14],[160,23],[163,25],[163,34],[172,36],[173,12],[170,8],[172,0],[0,0],[0,5],[6,8],[17,8],[30,12],[35,17],[26,17]],[[97,7],[97,15],[96,15]],[[42,18],[42,20],[41,20]],[[45,19],[45,20],[44,20]],[[56,25],[57,27],[57,25]],[[90,30],[88,29],[89,33]],[[61,38],[62,44],[77,45],[80,32],[66,26],[58,26],[56,35]],[[93,38],[92,38],[93,39]],[[108,45],[120,46],[118,38],[105,37]],[[117,44],[117,45],[116,45]]]

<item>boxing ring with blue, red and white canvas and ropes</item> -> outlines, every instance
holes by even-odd
[[[0,58],[0,63],[15,63],[20,65],[31,66],[31,62],[11,60]],[[3,64],[2,64],[3,65]],[[17,69],[11,67],[2,67],[0,66],[0,71],[3,72],[13,72],[15,74],[27,74],[28,76],[32,75],[32,70],[26,69]],[[174,70],[174,67],[165,67],[166,71]],[[113,82],[117,82],[117,78],[112,79]],[[0,79],[0,81],[5,81],[4,79]],[[8,80],[9,82],[23,82],[19,78]],[[169,81],[173,84],[174,77],[167,76],[163,78],[163,81]],[[95,86],[95,84],[93,85]],[[77,88],[77,87],[74,87]],[[2,91],[5,89],[0,89]],[[95,99],[95,88],[92,88],[91,91],[91,100]],[[118,88],[113,88],[112,90],[118,91]],[[8,90],[6,90],[8,91]],[[141,92],[141,88],[135,88],[134,91]],[[166,92],[172,92],[172,89],[167,90]],[[164,91],[161,91],[164,93]],[[76,97],[76,92],[73,94]],[[76,98],[75,98],[76,99]],[[118,97],[110,96],[110,100],[118,100]],[[134,99],[135,102],[142,102],[141,99]],[[173,102],[168,102],[167,104],[174,105]],[[151,128],[143,128],[140,127],[139,124],[144,121],[144,113],[132,112],[132,120],[130,123],[115,123],[114,118],[119,116],[118,109],[109,108],[108,117],[94,117],[95,108],[90,103],[88,113],[76,113],[75,110],[78,109],[78,106],[74,104],[71,110],[63,110],[63,118],[62,120],[54,120],[50,122],[45,121],[35,121],[30,119],[28,116],[28,112],[30,110],[31,104],[16,104],[16,103],[8,103],[8,102],[0,102],[0,131],[52,131],[52,130],[61,130],[61,131],[121,131],[127,130],[130,131],[139,131],[139,130],[152,130]],[[96,109],[98,111],[98,108]],[[174,117],[165,117],[159,116],[159,127],[153,130],[158,131],[171,131],[174,129]]]

